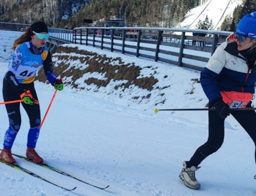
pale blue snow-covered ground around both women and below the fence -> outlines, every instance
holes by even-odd
[[[5,48],[10,48],[16,32],[9,32]],[[4,37],[3,37],[4,36]],[[7,40],[8,39],[8,40]],[[2,46],[0,46],[2,47]],[[102,51],[106,56],[114,53]],[[0,48],[0,56],[9,59],[9,53]],[[126,55],[119,55],[126,59]],[[7,70],[7,60],[0,63],[0,86]],[[191,79],[200,73],[136,57],[137,65],[152,63],[161,67],[172,78],[166,102],[158,108],[202,108],[207,103],[200,84],[191,85]],[[161,82],[161,81],[159,81]],[[164,82],[164,80],[162,80]],[[54,93],[51,85],[35,82],[44,116]],[[189,86],[189,87],[188,87]],[[187,89],[193,90],[189,94]],[[138,91],[138,96],[140,95]],[[114,93],[113,93],[114,94]],[[3,100],[3,98],[2,98]],[[1,99],[0,99],[1,101]],[[46,163],[63,169],[84,181],[110,185],[106,190],[82,184],[56,172],[17,159],[49,181],[73,188],[66,191],[22,171],[0,164],[1,195],[55,196],[55,195],[118,195],[118,196],[252,196],[256,194],[254,145],[243,128],[228,117],[225,122],[225,141],[221,149],[208,157],[197,171],[200,190],[186,188],[178,178],[182,161],[188,160],[199,145],[207,140],[207,112],[159,112],[146,103],[127,105],[125,98],[102,97],[66,86],[58,92],[41,128],[36,149]],[[254,102],[255,105],[255,102]],[[8,127],[5,106],[0,107],[1,134]],[[28,117],[22,109],[22,127],[13,145],[13,152],[24,155],[26,150]]]

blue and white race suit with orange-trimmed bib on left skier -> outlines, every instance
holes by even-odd
[[[41,66],[44,66],[47,79],[51,83],[55,81],[56,77],[53,74],[52,58],[47,46],[41,48],[41,52],[39,54],[34,52],[31,41],[23,42],[17,46],[3,81],[4,101],[20,99],[20,94],[26,90],[30,90],[33,98],[38,100],[34,88],[34,79],[37,70],[39,70]],[[35,148],[39,136],[41,122],[40,107],[39,104],[30,105],[23,102],[22,105],[28,114],[30,122],[27,146]],[[5,149],[11,149],[20,128],[22,120],[19,106],[19,102],[6,104],[9,127],[4,138]]]

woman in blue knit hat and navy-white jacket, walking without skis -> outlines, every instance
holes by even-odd
[[[201,84],[209,99],[209,135],[189,161],[183,162],[180,179],[192,189],[200,189],[195,177],[198,165],[215,153],[224,140],[224,120],[231,114],[246,130],[256,145],[253,110],[231,111],[229,108],[251,107],[256,82],[256,12],[245,15],[234,33],[236,39],[226,41],[210,57],[201,72]],[[256,162],[256,151],[255,151]]]

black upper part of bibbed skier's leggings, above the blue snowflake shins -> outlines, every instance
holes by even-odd
[[[29,84],[22,84],[22,85],[24,90],[30,90],[33,98],[38,100],[33,82]],[[6,79],[4,79],[4,82],[3,82],[3,96],[4,96],[4,101],[12,101],[12,100],[20,99],[18,93],[12,88],[12,86],[9,84],[9,82]],[[30,105],[22,102],[22,105],[28,114],[30,127],[34,128],[39,126],[41,123],[39,104]],[[20,103],[19,102],[11,103],[11,104],[6,104],[5,106],[6,106],[7,114],[9,117],[9,124],[15,130],[15,132],[18,132],[20,128],[20,124],[22,123],[20,108],[19,108]]]

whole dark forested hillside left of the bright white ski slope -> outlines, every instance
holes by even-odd
[[[94,21],[119,18],[137,26],[174,27],[183,20],[189,9],[205,1],[0,0],[0,20],[28,24],[34,19],[44,19],[50,26],[78,27],[84,25],[84,18]],[[66,21],[68,18],[70,19]]]

